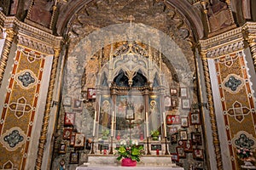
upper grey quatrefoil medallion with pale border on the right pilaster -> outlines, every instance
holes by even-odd
[[[241,77],[235,74],[230,74],[224,79],[222,87],[231,94],[236,94],[242,88],[243,84],[244,81],[241,79]]]

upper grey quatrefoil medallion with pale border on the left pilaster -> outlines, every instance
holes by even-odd
[[[25,89],[31,88],[38,82],[38,79],[30,70],[21,71],[16,75],[15,80],[21,88]]]

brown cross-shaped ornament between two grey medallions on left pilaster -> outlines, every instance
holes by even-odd
[[[24,115],[24,113],[27,113],[32,110],[32,106],[26,104],[26,99],[24,97],[21,97],[20,99],[17,99],[17,102],[12,102],[9,104],[10,111],[15,111],[15,116],[20,119],[21,116]]]

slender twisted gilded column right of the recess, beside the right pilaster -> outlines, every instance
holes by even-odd
[[[220,143],[219,143],[219,139],[218,139],[218,127],[217,127],[216,116],[214,113],[214,106],[213,106],[211,79],[210,79],[206,55],[207,55],[206,52],[201,52],[204,76],[205,76],[205,81],[206,81],[206,86],[207,86],[208,109],[210,112],[209,113],[210,121],[211,121],[211,125],[212,125],[213,146],[214,146],[214,152],[216,155],[217,168],[218,168],[218,170],[223,170],[222,156],[221,156],[221,151],[220,151]]]

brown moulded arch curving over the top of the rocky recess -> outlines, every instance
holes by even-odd
[[[140,3],[143,1],[131,0],[127,2]],[[203,24],[200,16],[201,11],[196,7],[196,5],[190,4],[187,0],[179,0],[178,2],[176,2],[175,0],[167,0],[166,3],[164,1],[155,1],[155,0],[146,1],[146,2],[148,4],[154,3],[156,5],[172,6],[172,8],[175,8],[176,12],[182,16],[183,22],[185,22],[189,26],[189,29],[193,31],[194,35],[192,36],[193,38],[195,38],[195,41],[204,37]],[[61,12],[56,22],[57,34],[64,35],[64,36],[67,35],[67,32],[70,29],[70,23],[82,8],[87,8],[87,11],[84,11],[84,13],[88,13],[88,15],[90,14],[91,7],[98,9],[100,14],[101,10],[99,9],[100,8],[98,5],[99,3],[110,3],[110,0],[97,0],[97,1],[73,0],[73,1],[69,1],[66,5],[62,5],[60,9]],[[111,10],[115,10],[115,8],[112,8]],[[165,9],[163,8],[163,12],[164,10]],[[159,11],[156,11],[156,12],[158,13]],[[139,22],[139,21],[135,21],[135,22]]]

